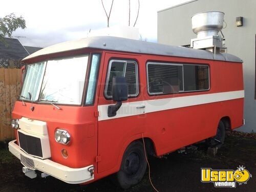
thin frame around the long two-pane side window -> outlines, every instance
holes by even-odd
[[[148,65],[170,65],[170,66],[182,66],[182,81],[183,81],[183,90],[179,91],[178,93],[150,93],[150,83],[148,81]],[[184,65],[191,65],[191,66],[206,66],[208,67],[208,89],[204,90],[191,90],[191,91],[184,91]],[[150,96],[156,96],[156,95],[173,95],[173,94],[179,94],[179,93],[189,93],[189,92],[201,92],[201,91],[209,91],[210,90],[210,66],[207,64],[199,64],[199,63],[175,63],[175,62],[156,62],[156,61],[147,61],[146,62],[146,81],[147,81],[147,94]]]

